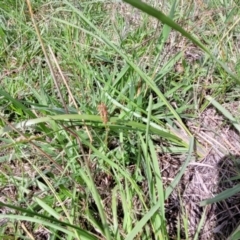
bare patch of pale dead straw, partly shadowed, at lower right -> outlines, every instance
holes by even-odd
[[[208,149],[208,154],[189,165],[179,186],[169,198],[166,215],[169,233],[173,238],[176,236],[177,222],[181,222],[181,237],[186,237],[183,227],[185,217],[188,237],[193,239],[204,211],[199,203],[240,183],[237,179],[231,180],[240,171],[240,136],[212,108],[204,111],[198,121],[189,122],[188,126],[197,140]],[[239,207],[240,194],[208,205],[198,239],[227,239],[239,224]]]

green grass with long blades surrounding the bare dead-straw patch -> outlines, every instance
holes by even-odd
[[[239,6],[125,2],[1,6],[2,238],[203,239],[180,186],[206,109],[240,129]]]

